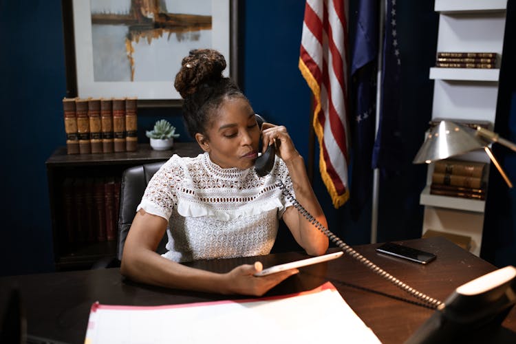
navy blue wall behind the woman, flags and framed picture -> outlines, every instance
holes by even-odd
[[[310,91],[297,68],[304,1],[247,0],[239,4],[240,84],[258,113],[288,127],[308,162]],[[407,43],[402,51],[402,89],[409,95],[403,109],[408,161],[422,143],[421,133],[430,118],[432,84],[428,68],[435,54],[437,21],[431,0],[408,1],[404,6],[398,5],[398,25],[402,41]],[[65,144],[61,1],[0,0],[0,32],[0,140],[4,147],[1,180],[7,202],[0,225],[0,275],[51,271],[52,230],[45,160],[56,147]],[[414,89],[418,89],[416,94]],[[147,142],[144,130],[162,117],[171,119],[181,138],[187,139],[178,110],[140,109],[141,142]],[[317,159],[318,156],[316,162]],[[379,241],[420,235],[422,207],[418,205],[418,194],[425,172],[420,166],[407,164],[395,180],[385,181],[380,192]],[[352,222],[347,205],[338,210],[332,207],[317,166],[314,176],[314,189],[330,229],[349,244],[369,242],[370,203],[361,219]]]

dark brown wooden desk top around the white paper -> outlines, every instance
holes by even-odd
[[[374,248],[379,244],[355,248],[391,275],[441,301],[461,284],[496,269],[442,237],[400,243],[434,252],[437,259],[428,266],[422,266],[376,253]],[[299,252],[291,252],[195,261],[187,265],[226,272],[239,264],[256,260],[267,267],[303,257],[305,255]],[[300,271],[266,295],[301,292],[330,281],[383,343],[402,343],[433,313],[350,257],[308,266]],[[164,305],[242,298],[145,286],[124,279],[118,268],[0,278],[0,287],[12,285],[19,286],[21,290],[28,333],[67,343],[83,343],[89,309],[95,301],[118,305]],[[0,294],[0,301],[5,297],[6,293]],[[503,325],[516,331],[516,308],[511,310]]]

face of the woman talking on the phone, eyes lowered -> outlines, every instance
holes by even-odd
[[[211,161],[223,169],[248,169],[258,157],[260,129],[245,98],[230,98],[215,114],[206,136],[195,136]]]

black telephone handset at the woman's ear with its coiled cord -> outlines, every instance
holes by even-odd
[[[264,118],[256,115],[258,125],[261,129],[261,125],[265,122]],[[275,160],[275,146],[274,144],[271,144],[266,152],[259,156],[257,160],[255,161],[255,170],[257,175],[260,177],[264,177],[264,175],[267,175],[272,170],[272,166],[274,166],[274,160]],[[287,197],[290,202],[294,205],[294,208],[303,215],[312,225],[316,226],[317,229],[319,229],[324,235],[326,235],[338,248],[340,248],[344,253],[349,255],[350,257],[360,261],[362,264],[367,266],[367,268],[371,269],[376,274],[380,275],[381,277],[387,279],[387,281],[393,283],[398,288],[404,290],[405,292],[411,294],[413,297],[416,297],[416,299],[420,299],[424,303],[427,303],[431,308],[438,308],[440,305],[442,305],[442,301],[439,301],[437,299],[433,299],[432,297],[429,297],[426,294],[423,294],[422,292],[419,292],[418,290],[411,288],[411,286],[408,286],[406,283],[403,283],[393,275],[389,274],[389,272],[383,270],[376,264],[374,264],[372,261],[361,255],[360,253],[356,252],[354,248],[347,245],[344,241],[341,240],[341,238],[337,237],[332,233],[329,229],[327,229],[323,224],[321,224],[315,217],[310,215],[308,211],[299,204],[299,202],[296,200],[294,196],[290,194],[290,192],[286,189],[285,185],[281,183],[280,181],[277,181],[276,186],[281,189],[281,192],[285,197]]]

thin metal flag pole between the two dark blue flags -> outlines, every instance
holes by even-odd
[[[387,1],[387,0],[385,0]],[[382,67],[383,67],[383,36],[385,29],[385,1],[380,1],[380,9],[378,22],[378,72],[376,74],[376,121],[374,125],[374,137],[378,135],[378,127],[380,127],[380,108],[382,101]],[[371,211],[371,244],[376,244],[378,239],[378,189],[380,187],[380,171],[373,171],[373,194],[372,194],[372,211]]]

